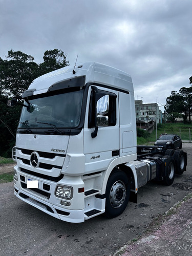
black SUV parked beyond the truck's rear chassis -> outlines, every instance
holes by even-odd
[[[154,145],[164,148],[182,148],[182,141],[177,134],[164,134],[160,135]]]

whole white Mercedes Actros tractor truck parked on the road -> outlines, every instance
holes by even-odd
[[[125,72],[96,62],[67,66],[35,79],[22,99],[14,194],[57,219],[114,218],[137,202],[139,187],[151,180],[170,185],[186,170],[182,150],[137,147],[134,89]]]

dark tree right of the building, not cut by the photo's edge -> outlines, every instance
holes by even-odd
[[[172,91],[171,95],[166,99],[165,110],[167,112],[167,118],[171,122],[175,122],[176,118],[181,116],[181,108],[183,104],[183,96]]]

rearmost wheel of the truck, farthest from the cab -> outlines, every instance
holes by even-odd
[[[182,175],[187,165],[185,154],[182,150],[176,150],[173,157],[176,162],[176,174]]]

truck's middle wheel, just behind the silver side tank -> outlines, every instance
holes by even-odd
[[[167,186],[172,185],[175,179],[175,160],[171,156],[163,156],[164,172],[163,183]]]

